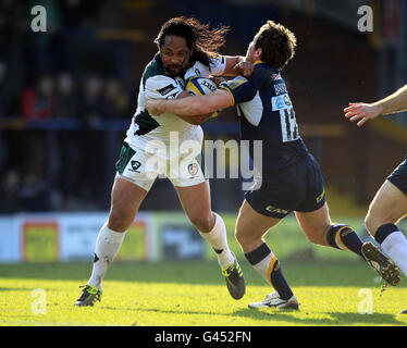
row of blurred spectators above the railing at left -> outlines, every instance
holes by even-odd
[[[39,76],[18,98],[18,114],[27,121],[77,119],[86,124],[128,116],[128,96],[116,78],[87,75],[75,80],[70,73]]]

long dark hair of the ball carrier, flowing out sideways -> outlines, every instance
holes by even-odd
[[[210,59],[207,52],[218,53],[225,44],[225,35],[229,30],[229,26],[220,25],[211,29],[209,24],[202,24],[194,17],[178,16],[161,26],[155,44],[160,48],[166,36],[183,37],[192,50],[190,59],[209,66]]]

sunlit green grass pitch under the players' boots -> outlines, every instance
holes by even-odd
[[[299,311],[251,310],[270,287],[240,259],[247,290],[233,300],[218,264],[211,261],[112,264],[103,298],[94,308],[77,308],[78,285],[86,283],[91,263],[26,263],[0,265],[0,325],[137,325],[137,326],[270,326],[270,325],[407,325],[407,282],[381,294],[374,271],[361,260],[282,261]],[[46,313],[33,313],[46,294]],[[360,289],[370,289],[373,313],[360,314]]]

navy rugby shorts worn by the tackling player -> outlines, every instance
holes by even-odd
[[[281,171],[263,170],[261,187],[247,191],[245,198],[256,212],[275,219],[283,219],[292,211],[318,210],[325,203],[320,166],[307,153]]]

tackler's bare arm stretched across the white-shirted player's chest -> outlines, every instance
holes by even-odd
[[[174,113],[180,116],[198,116],[225,109],[234,104],[232,95],[225,89],[217,89],[213,94],[192,96],[182,99],[149,99],[146,109],[152,115]]]

